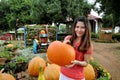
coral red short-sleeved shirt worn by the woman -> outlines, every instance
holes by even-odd
[[[66,36],[65,40],[69,40],[71,36]],[[84,60],[84,54],[82,52],[79,52],[77,50],[80,43],[74,43],[75,47],[75,53],[76,53],[76,60],[83,61]],[[92,47],[89,48],[86,54],[92,54],[93,49]],[[61,73],[64,74],[67,77],[73,78],[75,80],[81,80],[85,78],[84,75],[84,67],[80,65],[75,65],[71,68],[61,67]]]

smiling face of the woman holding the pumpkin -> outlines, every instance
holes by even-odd
[[[85,24],[84,22],[77,22],[76,26],[75,26],[75,33],[77,35],[77,37],[82,37],[85,34]]]

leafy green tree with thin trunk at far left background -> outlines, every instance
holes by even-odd
[[[27,0],[8,0],[9,12],[6,14],[6,19],[9,26],[15,29],[15,38],[17,37],[17,29],[29,20],[30,6]]]

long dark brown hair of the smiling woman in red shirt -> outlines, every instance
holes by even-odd
[[[78,51],[83,51],[85,53],[91,45],[91,26],[89,20],[86,17],[81,16],[76,18],[73,24],[72,37],[70,39],[71,45],[73,45],[74,40],[77,38],[77,35],[75,33],[75,27],[77,22],[83,22],[85,25],[85,34],[83,35],[81,44],[78,47]]]

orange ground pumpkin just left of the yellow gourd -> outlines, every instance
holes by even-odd
[[[40,66],[43,68],[43,70],[45,69],[45,60],[41,57],[34,57],[28,64],[28,73],[31,76],[38,76]]]

